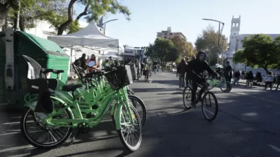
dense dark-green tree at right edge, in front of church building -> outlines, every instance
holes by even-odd
[[[267,73],[269,68],[279,65],[280,37],[272,40],[271,36],[257,34],[247,36],[241,41],[244,50],[239,50],[233,57],[236,63],[245,63],[252,68],[263,68]]]

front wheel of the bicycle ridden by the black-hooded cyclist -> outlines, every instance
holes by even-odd
[[[210,91],[202,98],[202,113],[208,121],[213,121],[218,115],[218,100]]]

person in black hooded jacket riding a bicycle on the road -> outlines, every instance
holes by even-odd
[[[203,51],[200,51],[197,53],[196,59],[189,61],[188,66],[186,67],[186,72],[190,76],[190,79],[192,80],[192,99],[191,99],[191,105],[193,107],[196,107],[195,104],[195,94],[197,92],[197,83],[204,82],[204,79],[202,78],[202,73],[204,70],[207,70],[208,73],[211,75],[217,75],[214,70],[212,70],[209,66],[209,63],[205,61],[207,58],[207,54]],[[204,88],[202,88],[199,91],[199,94],[204,92]]]

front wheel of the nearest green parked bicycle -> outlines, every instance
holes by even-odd
[[[136,151],[139,149],[142,142],[142,125],[135,107],[133,105],[129,105],[129,107],[134,125],[131,124],[127,107],[123,106],[119,112],[119,119],[116,119],[117,121],[120,121],[120,130],[117,131],[123,145],[130,151]]]

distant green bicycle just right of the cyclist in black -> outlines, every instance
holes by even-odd
[[[225,77],[221,77],[221,80],[216,80],[215,78],[210,78],[207,80],[207,89],[213,89],[214,87],[220,87],[221,91],[228,93],[232,90],[232,84],[225,80]]]

